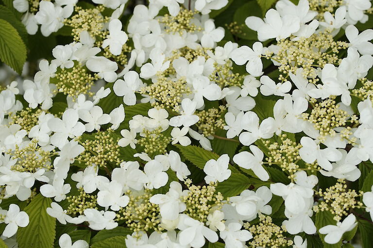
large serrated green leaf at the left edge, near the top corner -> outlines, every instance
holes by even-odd
[[[26,46],[17,30],[7,21],[0,19],[0,59],[12,67],[18,74],[22,73],[26,62]]]

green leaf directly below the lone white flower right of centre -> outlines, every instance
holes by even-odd
[[[226,198],[239,195],[243,190],[249,188],[251,185],[253,185],[253,183],[247,176],[232,173],[227,180],[218,183],[216,190]]]

